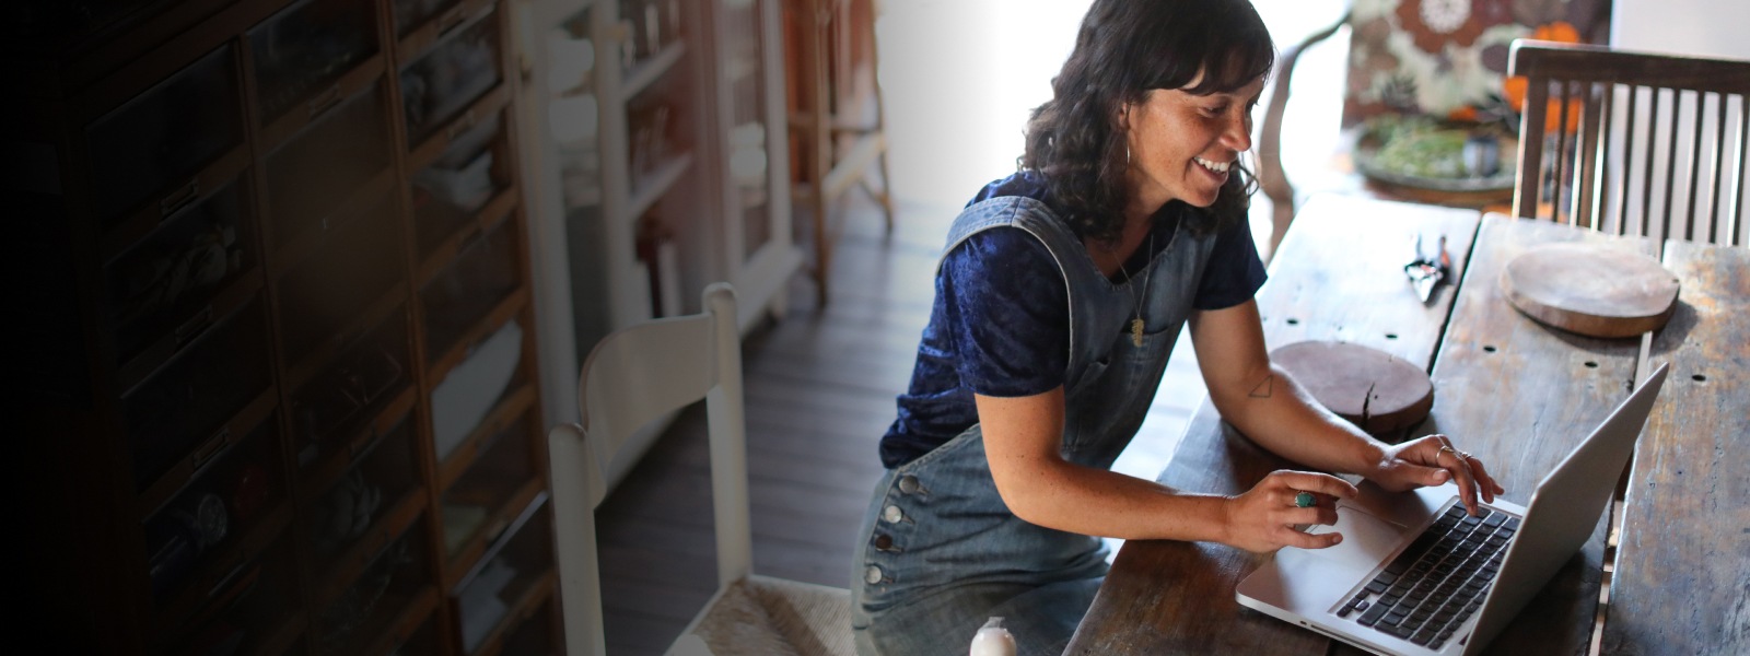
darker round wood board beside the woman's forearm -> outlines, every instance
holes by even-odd
[[[1433,408],[1433,383],[1410,360],[1346,341],[1297,341],[1270,352],[1312,399],[1370,434],[1409,429]]]

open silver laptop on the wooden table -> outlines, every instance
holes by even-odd
[[[1470,518],[1452,483],[1391,493],[1363,483],[1337,504],[1328,549],[1283,548],[1251,572],[1239,604],[1379,654],[1482,651],[1586,544],[1634,453],[1661,364],[1531,493]]]

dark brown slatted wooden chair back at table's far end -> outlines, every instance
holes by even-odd
[[[1750,61],[1516,40],[1514,215],[1750,245]]]

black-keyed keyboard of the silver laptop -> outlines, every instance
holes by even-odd
[[[1354,598],[1337,609],[1362,626],[1440,649],[1489,595],[1519,518],[1452,506]]]

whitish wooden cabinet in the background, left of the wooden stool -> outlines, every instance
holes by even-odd
[[[579,364],[614,329],[700,311],[718,280],[735,283],[744,327],[782,311],[802,254],[782,156],[779,7],[513,2],[553,425],[578,420]],[[658,429],[635,439],[648,446]]]

